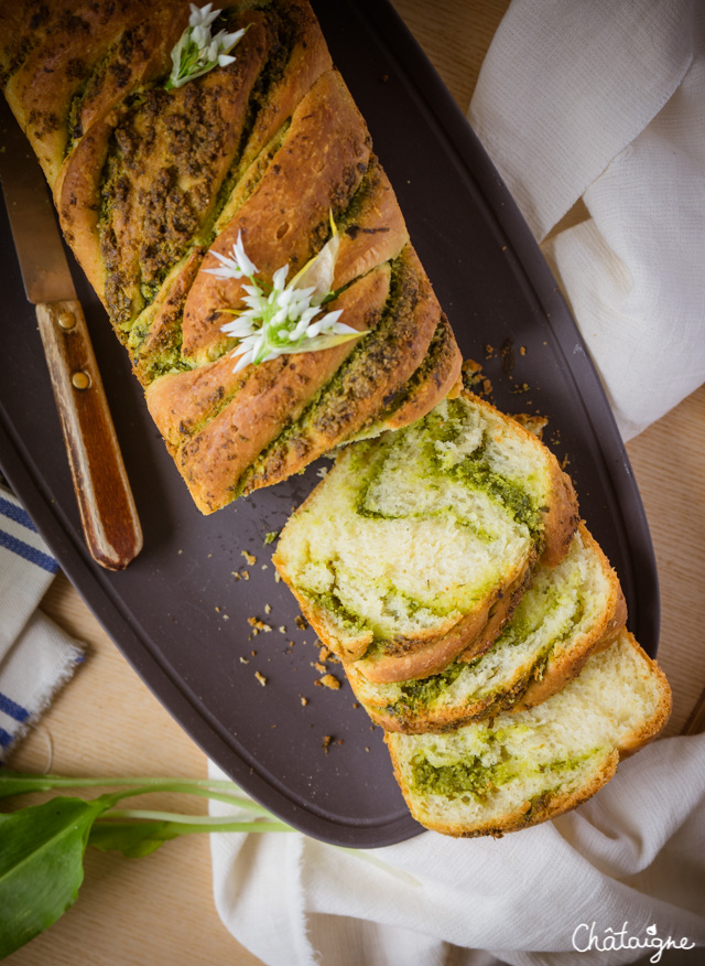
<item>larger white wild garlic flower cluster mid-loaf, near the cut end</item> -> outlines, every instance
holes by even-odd
[[[283,265],[274,272],[271,286],[257,281],[254,276],[259,269],[248,258],[240,233],[230,256],[210,253],[220,261],[220,267],[204,269],[208,275],[221,279],[247,278],[249,281],[249,285],[242,286],[246,293],[242,301],[247,309],[234,311],[236,318],[232,322],[221,326],[226,335],[238,340],[232,352],[234,358],[237,358],[234,372],[280,355],[330,348],[367,334],[339,322],[343,310],[316,318],[322,312],[323,302],[333,294],[330,286],[340,238],[333,218],[330,225],[333,236],[289,285],[289,265]]]

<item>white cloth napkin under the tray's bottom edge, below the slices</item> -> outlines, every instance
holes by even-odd
[[[268,966],[486,966],[481,949],[610,966],[648,941],[705,945],[705,734],[653,743],[582,808],[501,839],[427,831],[356,854],[297,833],[210,838],[218,913]],[[605,952],[609,930],[632,948]]]

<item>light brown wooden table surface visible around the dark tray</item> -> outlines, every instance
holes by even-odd
[[[394,0],[394,6],[466,110],[508,0]],[[581,210],[572,215],[582,216]],[[705,642],[699,621],[692,620],[705,603],[705,387],[630,442],[628,451],[655,545],[662,593],[659,659],[674,691],[666,732],[673,734],[705,686]],[[200,750],[139,680],[63,575],[42,609],[88,643],[89,658],[11,766],[51,765],[64,774],[205,775]],[[215,911],[208,837],[188,836],[144,859],[89,850],[76,905],[7,962],[251,966],[260,960],[230,936]]]

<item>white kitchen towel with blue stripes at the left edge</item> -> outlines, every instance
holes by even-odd
[[[0,762],[84,659],[37,605],[58,565],[22,504],[0,486]]]

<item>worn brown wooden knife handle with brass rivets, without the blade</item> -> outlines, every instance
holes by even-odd
[[[80,302],[37,304],[36,319],[86,544],[101,567],[122,570],[142,529]]]

